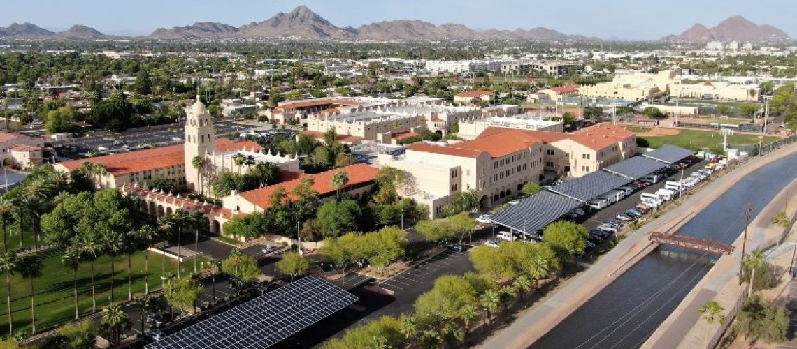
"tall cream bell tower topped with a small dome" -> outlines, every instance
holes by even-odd
[[[199,95],[191,107],[186,107],[186,116],[186,138],[183,144],[186,157],[186,187],[194,192],[204,191],[205,188],[199,183],[202,180],[202,173],[194,168],[194,158],[200,157],[208,161],[206,155],[214,153],[216,149],[213,116],[199,100]]]

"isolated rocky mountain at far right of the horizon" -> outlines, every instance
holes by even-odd
[[[756,25],[741,16],[730,17],[713,28],[697,23],[679,35],[662,37],[673,43],[705,43],[709,41],[782,42],[791,38],[771,25]]]

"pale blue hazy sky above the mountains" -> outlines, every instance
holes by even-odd
[[[4,1],[6,2],[6,1]],[[47,29],[74,24],[117,35],[146,35],[161,27],[220,21],[245,25],[277,12],[308,6],[338,26],[391,19],[420,19],[436,25],[460,23],[473,29],[530,29],[544,26],[567,34],[624,40],[655,40],[681,33],[694,23],[712,27],[743,15],[797,37],[795,0],[25,0],[8,1],[0,26],[30,22]]]

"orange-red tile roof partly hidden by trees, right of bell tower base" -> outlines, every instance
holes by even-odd
[[[346,184],[346,188],[355,187],[360,184],[371,183],[376,180],[376,173],[378,172],[369,165],[357,164],[342,167],[340,169],[333,169],[332,171],[327,171],[324,173],[306,176],[313,179],[313,190],[318,192],[319,196],[325,196],[336,192],[335,188],[332,188],[332,176],[335,176],[335,173],[338,171],[344,171],[348,174],[349,182]],[[271,195],[277,191],[277,188],[280,187],[285,188],[285,192],[288,192],[288,196],[291,200],[296,200],[296,197],[293,196],[291,192],[293,188],[299,186],[300,183],[301,178],[289,180],[281,184],[269,185],[268,187],[251,190],[249,192],[241,192],[239,195],[241,198],[249,201],[257,207],[265,209],[271,207]]]

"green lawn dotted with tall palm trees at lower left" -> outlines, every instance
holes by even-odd
[[[12,245],[13,246],[13,245]],[[149,289],[160,288],[161,255],[153,252],[138,251],[132,258],[132,289],[133,294],[144,291],[144,254],[149,254]],[[62,324],[73,319],[73,283],[72,270],[61,264],[61,253],[49,250],[42,253],[42,277],[33,280],[36,291],[36,327],[37,332],[45,328]],[[201,262],[201,260],[200,260]],[[194,270],[192,260],[183,262],[183,273]],[[114,283],[114,300],[127,301],[128,299],[128,258],[116,257],[115,273],[111,275],[111,262],[108,256],[99,258],[94,262],[96,271],[96,301],[97,310],[110,303],[111,281]],[[165,270],[176,273],[177,263],[171,258],[166,258]],[[4,277],[4,276],[3,276]],[[30,330],[30,284],[18,275],[11,277],[11,306],[14,312],[14,332]],[[77,271],[78,308],[81,314],[92,311],[91,265],[83,263]],[[0,335],[8,335],[8,312],[6,302],[6,285],[0,288]]]

